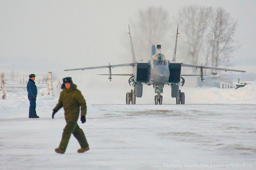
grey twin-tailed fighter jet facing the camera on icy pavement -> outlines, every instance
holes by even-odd
[[[195,76],[195,75],[181,75],[181,68],[182,67],[192,67],[199,69],[199,75],[201,76],[201,80],[203,82],[204,74],[203,69],[212,69],[212,70],[224,70],[224,71],[237,71],[237,72],[246,72],[243,70],[232,70],[226,68],[215,68],[215,67],[207,67],[203,66],[202,64],[199,65],[190,65],[176,62],[176,49],[177,49],[177,39],[178,39],[178,28],[176,32],[176,39],[175,39],[175,46],[172,60],[167,60],[165,56],[161,53],[161,45],[152,45],[151,49],[151,60],[139,60],[137,61],[135,58],[133,45],[132,45],[132,36],[129,27],[129,36],[131,42],[131,50],[132,50],[132,63],[124,63],[124,64],[116,64],[111,65],[110,63],[105,66],[96,66],[96,67],[84,67],[78,69],[68,69],[64,71],[71,71],[71,70],[89,70],[89,69],[101,69],[101,68],[108,68],[108,74],[98,74],[98,75],[108,75],[109,81],[111,81],[112,76],[131,76],[128,80],[129,84],[134,87],[131,92],[126,93],[126,104],[135,104],[136,97],[142,97],[142,89],[143,85],[153,85],[154,91],[156,93],[155,96],[155,104],[159,105],[162,104],[164,85],[170,85],[172,88],[172,98],[176,98],[176,104],[185,104],[185,94],[179,90],[179,86],[183,86],[185,83],[185,79],[181,76]],[[132,74],[112,74],[111,68],[114,67],[124,67],[124,66],[131,66],[132,67]]]

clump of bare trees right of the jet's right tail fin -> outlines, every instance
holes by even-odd
[[[222,8],[185,6],[180,9],[177,20],[180,32],[186,35],[183,54],[192,64],[232,65],[232,53],[241,45],[234,39],[237,21],[229,12]],[[200,55],[204,57],[199,62]]]

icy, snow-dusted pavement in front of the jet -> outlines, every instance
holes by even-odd
[[[51,105],[37,108],[39,119],[28,108],[0,109],[1,170],[256,168],[253,104],[88,105],[78,124],[90,150],[77,153],[71,136],[63,155],[54,152],[63,110],[52,119]]]

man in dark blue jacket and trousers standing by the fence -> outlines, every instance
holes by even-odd
[[[30,74],[28,83],[27,83],[27,91],[28,91],[28,100],[29,100],[29,115],[28,118],[39,118],[36,115],[36,96],[37,96],[37,87],[35,83],[35,74]]]

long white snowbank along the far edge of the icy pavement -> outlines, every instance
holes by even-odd
[[[220,89],[216,87],[180,87],[182,92],[185,92],[185,104],[256,104],[256,81],[246,82],[250,83],[244,87],[234,89]],[[136,104],[154,104],[155,93],[151,86],[143,86],[142,98],[136,98]],[[105,91],[106,89],[97,88],[91,90],[93,95],[88,91],[81,90],[88,104],[125,104],[124,95],[127,89],[116,89],[115,91]],[[36,105],[38,107],[54,107],[58,102],[58,97],[45,94],[47,89],[41,89],[38,92]],[[102,92],[101,92],[102,91]],[[105,91],[105,92],[103,92]],[[111,93],[111,99],[108,92]],[[164,87],[163,104],[175,104],[175,98],[171,97],[171,88]],[[55,94],[56,95],[56,94]],[[89,97],[93,96],[93,97]],[[20,98],[20,99],[17,99]],[[1,110],[12,108],[28,108],[29,101],[27,96],[17,96],[15,93],[7,93],[7,100],[0,100]]]

